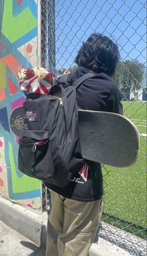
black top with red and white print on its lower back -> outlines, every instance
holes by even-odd
[[[79,77],[90,72],[85,67],[78,67],[77,71],[70,73],[67,82],[72,84]],[[108,111],[122,114],[120,92],[113,80],[104,73],[95,74],[88,78],[77,89],[77,104],[80,109],[92,111]],[[88,145],[87,145],[88,146]],[[64,188],[45,184],[50,189],[64,197],[88,202],[101,199],[103,196],[103,176],[101,165],[87,161],[82,173],[73,177],[70,184]]]

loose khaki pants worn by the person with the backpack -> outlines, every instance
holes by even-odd
[[[46,256],[87,256],[100,224],[102,200],[78,202],[51,190]]]

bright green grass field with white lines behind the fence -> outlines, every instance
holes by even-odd
[[[104,208],[102,220],[146,238],[146,102],[122,102],[124,116],[140,132],[140,153],[127,168],[103,166]]]

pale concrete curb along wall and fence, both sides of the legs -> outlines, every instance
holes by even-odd
[[[0,196],[0,220],[7,226],[19,232],[34,244],[45,250],[47,233],[47,212],[38,214],[15,204]],[[113,228],[113,227],[110,227]],[[116,232],[116,230],[115,230]],[[109,235],[108,235],[109,237]],[[98,237],[98,241],[92,244],[89,256],[128,256],[132,255],[108,240]],[[142,254],[140,254],[142,255]],[[143,254],[144,255],[144,254]]]

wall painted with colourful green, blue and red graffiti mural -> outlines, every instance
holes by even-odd
[[[17,72],[38,64],[37,0],[1,0],[0,12],[0,193],[41,210],[40,181],[17,169],[18,137],[9,126],[11,111],[25,101]]]

